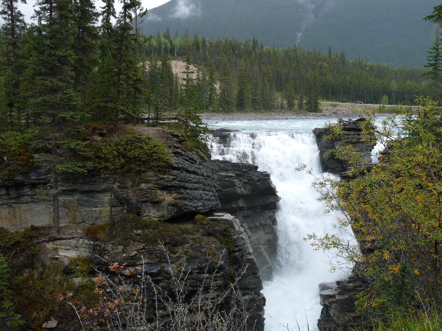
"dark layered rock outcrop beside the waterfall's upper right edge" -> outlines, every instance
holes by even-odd
[[[370,141],[363,141],[361,128],[358,125],[363,120],[365,119],[339,120],[338,124],[344,131],[344,134],[340,138],[324,138],[324,136],[331,134],[328,128],[315,128],[313,130],[316,144],[319,148],[322,171],[339,175],[341,172],[348,170],[349,164],[347,161],[337,159],[333,154],[329,157],[325,157],[325,153],[329,150],[335,150],[340,141],[346,145],[352,145],[353,150],[358,153],[363,163],[371,162],[371,151],[375,147],[375,144]]]

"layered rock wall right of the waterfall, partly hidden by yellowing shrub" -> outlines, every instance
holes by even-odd
[[[370,167],[371,151],[374,144],[362,141],[361,128],[358,123],[364,119],[358,120],[340,120],[338,122],[344,130],[341,139],[327,139],[324,135],[330,135],[327,128],[316,128],[313,130],[316,136],[316,144],[319,149],[319,156],[324,172],[330,172],[340,175],[342,180],[351,180],[348,175],[349,164],[347,161],[337,159],[334,155],[324,157],[328,150],[334,150],[340,141],[352,145],[365,165]],[[361,243],[360,243],[361,245]],[[354,272],[345,280],[338,280],[332,283],[319,284],[320,303],[322,305],[321,316],[318,319],[317,327],[323,331],[347,331],[362,325],[363,316],[356,314],[355,296],[364,289],[363,280],[357,277]],[[370,321],[368,321],[370,323]]]

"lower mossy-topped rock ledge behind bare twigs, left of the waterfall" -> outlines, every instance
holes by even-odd
[[[199,304],[204,306],[203,310],[207,310],[207,316],[208,311],[212,314],[222,312],[228,315],[233,307],[239,307],[235,316],[246,314],[247,330],[264,331],[266,300],[260,293],[262,282],[244,228],[235,217],[225,213],[215,213],[214,216],[208,217],[208,222],[205,224],[208,230],[204,241],[213,245],[214,249],[216,247],[218,252],[222,252],[221,256],[218,255],[221,257],[219,260],[213,260],[205,249],[198,248],[201,243],[191,239],[163,247],[146,245],[139,239],[136,231],[133,240],[126,243],[103,242],[86,235],[82,238],[53,241],[46,246],[52,258],[87,257],[96,270],[113,280],[115,287],[123,283],[130,284],[131,288],[140,289],[142,286],[147,286],[147,295],[152,302],[156,302],[152,284],[149,282],[142,284],[141,278],[125,276],[127,268],[131,268],[135,275],[144,271],[144,276],[150,277],[158,288],[182,286],[181,300],[185,303],[203,302],[204,304]],[[192,226],[190,221],[185,224]],[[202,227],[198,226],[199,230]],[[227,232],[226,241],[221,234]],[[188,253],[184,256],[183,252]],[[98,255],[100,258],[96,257]],[[119,265],[126,263],[126,269],[121,272],[121,277],[116,277],[115,272],[110,272],[109,266],[115,262]],[[184,279],[178,276],[182,268],[185,268]],[[177,279],[181,279],[179,284]],[[230,286],[234,283],[236,283],[237,296],[229,292]],[[167,298],[163,300],[168,302]],[[169,316],[167,307],[161,300],[157,301],[158,314],[165,318],[162,321],[167,322]],[[174,298],[173,301],[179,300]],[[199,307],[196,303],[192,306]],[[186,318],[190,320],[201,318],[201,314],[198,317],[198,312],[191,308],[188,313]],[[147,323],[154,323],[155,315],[153,311],[143,318],[147,319]],[[103,330],[107,330],[107,327],[103,326]]]

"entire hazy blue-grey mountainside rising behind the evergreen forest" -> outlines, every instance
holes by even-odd
[[[143,17],[146,35],[171,32],[293,46],[421,67],[433,40],[422,21],[439,0],[171,0]]]

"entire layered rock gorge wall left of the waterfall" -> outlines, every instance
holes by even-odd
[[[263,277],[271,277],[271,256],[276,247],[274,215],[279,200],[269,175],[253,165],[205,160],[187,150],[185,139],[172,131],[137,130],[163,143],[172,165],[118,178],[98,173],[61,176],[61,231],[75,238],[41,245],[53,259],[67,263],[72,257],[86,257],[102,272],[109,272],[103,261],[143,268],[158,286],[170,281],[171,268],[187,263],[195,267],[189,279],[194,286],[191,291],[201,286],[196,280],[207,278],[210,271],[217,280],[214,298],[221,298],[229,284],[237,281],[238,293],[246,302],[248,328],[264,330],[265,298],[260,293],[258,267]],[[9,230],[50,226],[52,201],[41,198],[42,192],[51,189],[50,181],[47,173],[36,168],[2,185],[0,225]],[[146,243],[150,230],[124,224],[119,226],[126,240],[96,235],[95,229],[100,226],[118,226],[115,222],[120,222],[118,216],[122,214],[167,224],[164,228],[170,233],[161,237],[164,247]],[[197,221],[197,214],[208,218]],[[98,254],[104,260],[94,257]],[[205,288],[203,294],[209,295],[208,290]],[[227,296],[220,309],[230,309],[235,300]]]

